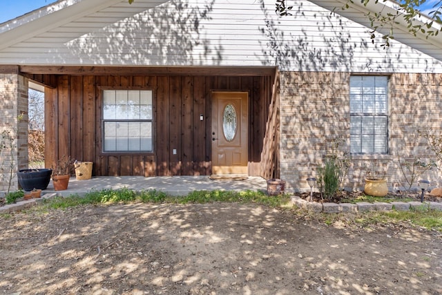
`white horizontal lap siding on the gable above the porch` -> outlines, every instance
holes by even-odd
[[[291,16],[278,17],[274,0],[168,1],[106,25],[118,13],[112,6],[3,48],[0,64],[278,66],[281,71],[442,73],[439,48],[401,30],[395,34],[403,43],[394,40],[387,50],[373,45],[367,27],[330,12],[332,7],[342,6],[339,1],[292,4]],[[340,13],[353,19],[362,17],[352,9]]]

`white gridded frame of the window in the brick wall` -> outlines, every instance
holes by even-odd
[[[361,112],[352,112],[352,78],[354,77],[359,77],[362,78],[362,84],[361,87],[363,87],[363,78],[364,77],[374,77],[375,79],[375,85],[376,85],[376,77],[384,77],[386,79],[386,86],[385,86],[385,113],[383,112],[378,112],[376,111],[376,91],[375,93],[373,93],[373,97],[374,97],[374,101],[373,101],[373,105],[374,105],[374,111],[372,112],[365,112],[364,110],[361,108]],[[374,88],[376,89],[376,86],[374,86]],[[363,93],[361,92],[361,101],[363,101]],[[350,154],[351,155],[390,155],[390,75],[351,75],[349,78],[349,124],[350,124],[350,129],[349,129],[349,142],[350,142]],[[362,102],[361,102],[362,103]],[[352,133],[352,118],[354,117],[360,117],[361,118],[361,132],[359,133]],[[363,118],[373,118],[373,130],[372,133],[364,133],[363,132]],[[382,133],[382,135],[385,136],[385,151],[383,152],[378,152],[375,151],[374,146],[375,146],[375,135],[376,134],[380,134],[380,133],[376,133],[376,126],[375,126],[375,118],[376,117],[385,117],[385,133]],[[352,135],[360,135],[361,139],[360,139],[360,146],[361,149],[360,151],[354,152],[352,151]],[[373,140],[372,140],[372,150],[369,152],[364,152],[363,151],[363,135],[372,135],[373,136]]]

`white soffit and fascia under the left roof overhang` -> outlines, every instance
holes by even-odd
[[[0,24],[0,50],[50,30],[77,26],[76,37],[104,28],[126,17],[153,8],[166,0],[59,0],[26,15]],[[117,13],[115,13],[117,12]],[[60,39],[73,39],[73,36]]]

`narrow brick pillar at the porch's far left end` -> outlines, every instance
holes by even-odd
[[[18,189],[15,172],[28,167],[28,79],[17,74],[0,74],[0,95],[0,133],[6,131],[13,139],[11,144],[3,139],[6,146],[0,153],[0,191],[4,192],[9,183],[11,191]]]

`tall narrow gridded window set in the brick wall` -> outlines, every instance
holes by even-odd
[[[351,153],[388,153],[388,77],[350,77]]]

